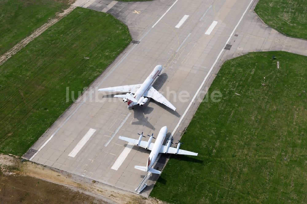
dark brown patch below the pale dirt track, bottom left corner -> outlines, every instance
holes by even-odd
[[[30,176],[2,176],[0,190],[0,203],[107,203],[68,187]]]

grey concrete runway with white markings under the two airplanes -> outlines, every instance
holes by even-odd
[[[285,37],[285,41],[278,41],[280,34],[264,25],[252,12],[254,0],[134,3],[79,0],[75,5],[116,16],[128,25],[136,41],[91,86],[140,84],[160,64],[164,70],[153,86],[177,109],[174,112],[150,100],[143,107],[128,110],[121,99],[94,89],[93,93],[80,96],[24,158],[131,192],[135,192],[146,175],[134,169],[134,165],[145,166],[149,152],[119,140],[120,135],[135,139],[142,131],[157,135],[166,125],[168,135],[172,134],[177,140],[200,103],[197,98],[204,96],[202,93],[199,97],[199,91],[207,90],[224,60],[251,49],[278,50],[278,46],[307,53],[304,40]],[[188,17],[182,22],[185,15]],[[179,93],[188,94],[183,97],[185,101],[179,100]],[[155,168],[161,170],[165,161],[162,155]],[[149,195],[156,179],[157,175],[150,178],[142,195]]]

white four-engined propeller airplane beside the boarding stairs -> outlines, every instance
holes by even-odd
[[[138,139],[132,139],[132,138],[128,138],[128,137],[123,137],[123,136],[119,136],[119,139],[133,143],[134,145],[140,146],[140,147],[144,147],[146,150],[151,150],[149,158],[148,158],[148,162],[146,164],[146,167],[142,167],[142,166],[134,166],[134,168],[142,170],[142,171],[146,171],[146,172],[151,172],[154,174],[161,174],[161,171],[158,171],[156,169],[151,168],[153,166],[153,164],[155,163],[155,161],[157,160],[158,154],[159,153],[171,153],[171,154],[179,154],[179,155],[193,155],[193,156],[197,156],[198,153],[192,152],[192,151],[186,151],[186,150],[181,150],[180,148],[180,141],[177,144],[177,147],[171,147],[171,144],[173,143],[172,140],[173,139],[169,139],[167,138],[169,141],[167,142],[166,145],[163,145],[163,141],[165,139],[167,133],[167,127],[164,126],[161,128],[157,139],[153,137],[153,134],[150,136],[148,142],[146,141],[142,141],[142,134],[139,134],[140,137]],[[156,139],[155,143],[152,143],[152,139]]]

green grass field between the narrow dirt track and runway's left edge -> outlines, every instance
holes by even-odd
[[[23,155],[130,43],[110,14],[76,8],[0,66],[0,152]],[[89,58],[89,59],[87,59]]]

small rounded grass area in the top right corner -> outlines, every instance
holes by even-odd
[[[307,0],[259,0],[255,12],[279,32],[307,39]]]

